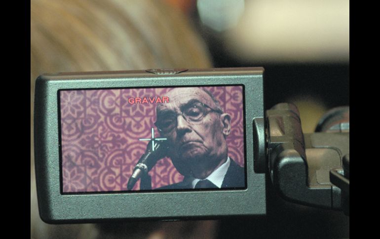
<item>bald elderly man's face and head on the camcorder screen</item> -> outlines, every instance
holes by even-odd
[[[226,160],[229,115],[217,110],[199,88],[176,88],[167,96],[169,103],[157,105],[157,122],[165,129],[161,136],[168,138],[169,156],[177,170],[189,175],[198,166],[213,167]]]

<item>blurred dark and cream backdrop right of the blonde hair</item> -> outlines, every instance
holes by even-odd
[[[167,1],[189,16],[214,67],[263,66],[266,108],[295,103],[304,132],[349,104],[349,2]]]

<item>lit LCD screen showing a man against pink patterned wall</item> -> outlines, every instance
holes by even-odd
[[[246,188],[243,85],[59,90],[58,101],[63,194]],[[166,156],[128,190],[154,143]]]

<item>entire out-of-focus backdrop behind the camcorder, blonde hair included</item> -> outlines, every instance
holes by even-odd
[[[38,219],[39,74],[213,67],[264,67],[265,108],[295,103],[311,133],[328,109],[349,105],[349,1],[32,0],[31,238],[349,238],[342,212],[285,202],[270,184],[265,218],[60,226]]]

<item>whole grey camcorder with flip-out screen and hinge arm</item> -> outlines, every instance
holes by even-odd
[[[265,110],[264,68],[51,73],[35,92],[47,223],[265,216],[267,183],[349,215],[349,107],[304,134],[295,105]]]

